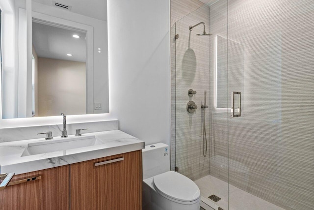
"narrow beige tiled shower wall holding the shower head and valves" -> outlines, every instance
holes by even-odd
[[[202,149],[203,120],[204,116],[209,120],[209,109],[201,109],[205,90],[209,103],[209,36],[196,35],[203,32],[203,25],[188,28],[200,22],[208,27],[209,6],[198,0],[172,0],[171,8],[171,23],[176,20],[171,29],[171,168],[177,166],[181,174],[196,180],[209,175],[209,158]],[[186,16],[197,8],[198,12]],[[189,89],[197,91],[195,97],[188,96]],[[190,100],[198,106],[195,114],[186,111]],[[209,141],[208,122],[206,131]]]

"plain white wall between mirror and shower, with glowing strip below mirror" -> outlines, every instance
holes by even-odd
[[[169,0],[108,0],[109,114],[68,123],[120,121],[146,144],[170,143]],[[0,119],[0,128],[61,123],[61,116]]]

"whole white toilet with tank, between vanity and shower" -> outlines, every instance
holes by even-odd
[[[147,145],[143,155],[143,210],[200,210],[201,193],[194,181],[170,171],[169,147]]]

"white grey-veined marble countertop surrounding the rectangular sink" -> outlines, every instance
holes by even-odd
[[[100,139],[103,144],[21,156],[28,144],[60,140],[61,137],[54,137],[52,140],[44,140],[44,138],[40,138],[0,143],[0,172],[14,172],[16,175],[23,174],[95,158],[141,150],[144,149],[145,145],[144,141],[120,130],[85,133],[82,134],[81,137],[84,136],[95,136]],[[66,139],[75,140],[75,138],[78,137],[69,135]]]

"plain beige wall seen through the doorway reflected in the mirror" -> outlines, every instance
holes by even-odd
[[[86,113],[86,64],[38,57],[38,115]]]

